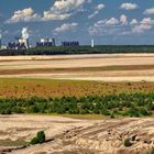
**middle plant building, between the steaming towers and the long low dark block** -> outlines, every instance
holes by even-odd
[[[36,47],[51,47],[55,45],[55,38],[41,38],[40,42],[36,42]]]

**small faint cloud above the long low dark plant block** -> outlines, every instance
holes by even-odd
[[[54,34],[64,33],[64,32],[67,32],[67,31],[75,31],[77,29],[77,26],[78,26],[78,23],[76,23],[76,22],[64,23],[62,26],[56,28],[54,30]]]

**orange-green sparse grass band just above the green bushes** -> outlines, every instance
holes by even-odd
[[[52,80],[0,78],[0,97],[31,98],[63,96],[103,96],[112,94],[152,92],[154,82],[102,82],[80,80]]]

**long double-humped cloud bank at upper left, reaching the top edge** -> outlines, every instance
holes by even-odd
[[[7,20],[7,23],[15,22],[31,22],[31,21],[51,21],[51,20],[65,20],[76,12],[82,11],[86,0],[61,0],[55,1],[53,7],[43,12],[43,16],[35,13],[32,8],[18,10],[13,15]]]

